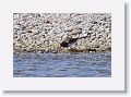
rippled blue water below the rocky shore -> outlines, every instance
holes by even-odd
[[[14,77],[110,77],[111,54],[23,53],[14,54]]]

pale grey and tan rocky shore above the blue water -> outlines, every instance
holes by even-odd
[[[13,52],[99,51],[111,51],[110,13],[13,14]]]

